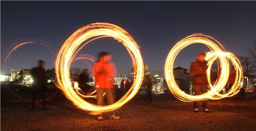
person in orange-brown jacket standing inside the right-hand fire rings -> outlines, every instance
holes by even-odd
[[[208,92],[208,80],[206,70],[208,68],[205,61],[205,53],[200,52],[195,62],[190,65],[190,74],[193,76],[194,95],[200,95]],[[207,109],[207,101],[202,102],[204,112],[209,112]],[[194,112],[198,112],[198,101],[194,101]]]

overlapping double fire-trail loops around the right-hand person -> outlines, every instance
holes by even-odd
[[[207,69],[207,78],[208,78],[210,90],[205,94],[193,96],[193,95],[185,94],[178,87],[178,85],[175,82],[173,69],[174,69],[174,61],[178,53],[185,47],[195,43],[205,44],[211,50],[210,52],[206,53],[206,57],[205,57],[205,59],[208,61],[208,66],[209,66]],[[220,60],[221,75],[216,80],[216,83],[212,85],[210,81],[210,69],[211,69],[211,65],[216,59]],[[232,87],[226,94],[219,94],[222,88],[225,87],[229,78],[229,60],[233,63],[236,70],[235,83],[232,85]],[[225,49],[222,46],[222,44],[220,44],[213,37],[210,37],[204,34],[192,34],[188,37],[183,38],[181,41],[175,44],[174,47],[170,50],[166,58],[164,73],[165,73],[165,78],[167,81],[168,88],[170,89],[172,94],[174,94],[174,96],[177,99],[185,102],[195,101],[195,100],[208,100],[208,99],[217,100],[217,99],[222,99],[224,97],[233,96],[239,92],[239,89],[241,87],[239,84],[240,82],[243,81],[242,66],[240,61],[236,58],[236,56],[230,52],[225,52]]]

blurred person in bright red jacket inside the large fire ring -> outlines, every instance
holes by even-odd
[[[97,105],[104,106],[105,96],[107,97],[108,105],[115,103],[115,85],[113,77],[116,75],[115,63],[111,62],[112,56],[107,52],[99,53],[99,61],[94,63],[93,75],[95,80],[95,88],[97,90]],[[103,96],[103,94],[106,95]],[[120,119],[113,112],[109,119]],[[103,120],[102,113],[99,114],[98,120]]]

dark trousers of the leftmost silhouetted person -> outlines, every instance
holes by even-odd
[[[44,89],[32,89],[32,101],[31,101],[31,105],[32,105],[32,109],[35,108],[35,104],[36,104],[36,97],[37,97],[37,94],[38,93],[41,93],[41,96],[42,96],[42,106],[43,106],[43,109],[46,108],[46,90]]]

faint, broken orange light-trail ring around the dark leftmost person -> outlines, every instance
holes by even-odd
[[[54,56],[56,56],[56,52],[54,50],[53,45],[49,44],[48,42],[41,40],[41,39],[36,39],[36,38],[31,38],[31,39],[23,39],[22,41],[17,41],[14,44],[12,44],[11,46],[8,47],[8,49],[5,51],[5,61],[3,64],[3,69],[5,68],[6,63],[10,60],[10,57],[12,55],[12,53],[16,50],[18,50],[21,46],[25,45],[25,44],[41,44],[43,46],[45,46],[47,48],[47,50],[49,50]],[[18,97],[20,100],[24,100],[24,101],[28,101],[31,102],[31,99],[27,99],[24,98],[23,96],[21,96],[20,94],[15,93],[9,86],[7,86],[8,90],[15,95],[16,97]],[[58,88],[56,90],[56,92],[54,92],[53,94],[51,94],[50,96],[48,96],[47,98],[45,98],[44,100],[49,100],[52,97],[54,97],[58,92],[60,91],[60,89]],[[33,102],[41,102],[43,101],[42,99],[40,100],[35,100]]]

